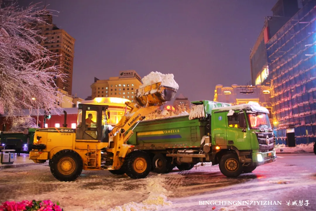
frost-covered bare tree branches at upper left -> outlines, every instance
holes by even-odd
[[[36,31],[47,13],[38,4],[19,8],[15,1],[0,0],[0,103],[11,119],[22,109],[54,111],[62,99],[54,79],[63,81],[65,74],[60,66],[46,66],[60,55],[44,48],[46,38]]]

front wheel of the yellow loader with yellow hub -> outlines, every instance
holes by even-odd
[[[129,153],[124,162],[127,176],[132,179],[147,177],[151,170],[151,160],[149,155],[141,150]]]

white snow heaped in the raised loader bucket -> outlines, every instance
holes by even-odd
[[[162,74],[161,72],[157,71],[151,72],[147,76],[144,76],[144,78],[142,78],[143,85],[140,85],[139,88],[161,82],[161,85],[163,86],[169,86],[178,90],[179,85],[173,79],[173,77],[173,74]]]

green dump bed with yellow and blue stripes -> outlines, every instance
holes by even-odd
[[[141,121],[128,144],[135,149],[197,148],[205,134],[206,121],[189,116]]]

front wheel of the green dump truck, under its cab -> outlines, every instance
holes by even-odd
[[[226,177],[238,177],[242,173],[242,166],[238,155],[235,153],[223,155],[219,162],[219,169]]]

